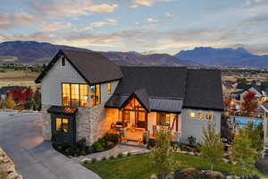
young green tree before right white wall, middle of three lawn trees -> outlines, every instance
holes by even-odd
[[[222,160],[223,148],[220,134],[215,132],[214,124],[208,124],[203,130],[203,139],[200,144],[202,158],[206,158],[214,170],[214,164]]]

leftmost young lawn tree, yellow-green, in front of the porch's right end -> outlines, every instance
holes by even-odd
[[[153,158],[154,166],[159,174],[164,177],[172,171],[173,155],[172,155],[172,132],[165,126],[161,126],[157,136],[155,147],[152,149],[151,158]]]

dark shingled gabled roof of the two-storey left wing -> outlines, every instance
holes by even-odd
[[[96,84],[107,81],[115,81],[122,78],[121,69],[104,55],[96,52],[84,52],[76,50],[60,50],[54,59],[41,72],[36,82],[39,83],[52,68],[59,56],[64,55],[74,69],[88,84]]]

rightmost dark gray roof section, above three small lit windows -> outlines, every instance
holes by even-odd
[[[223,110],[221,71],[189,69],[183,107]]]

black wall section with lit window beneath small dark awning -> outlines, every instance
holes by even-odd
[[[74,116],[52,115],[52,141],[56,144],[72,146],[75,143]]]

